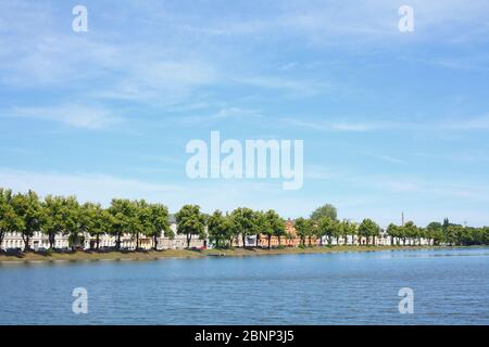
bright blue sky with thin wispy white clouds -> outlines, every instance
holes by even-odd
[[[72,29],[78,4],[88,31]],[[303,140],[302,188],[190,179],[186,144],[213,130]],[[488,136],[486,0],[0,0],[0,187],[14,191],[488,226]]]

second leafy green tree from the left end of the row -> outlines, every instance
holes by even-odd
[[[41,206],[37,194],[29,190],[26,194],[17,193],[12,197],[12,207],[16,216],[22,219],[21,222],[13,224],[15,230],[21,233],[24,241],[24,252],[30,250],[30,237],[40,230]]]

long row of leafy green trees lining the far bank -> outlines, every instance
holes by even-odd
[[[175,214],[177,233],[186,236],[187,247],[192,237],[209,237],[216,247],[231,247],[234,244],[246,245],[247,236],[254,236],[256,245],[263,237],[271,247],[272,237],[278,245],[284,239],[294,237],[287,232],[286,220],[275,210],[253,210],[239,207],[230,213],[215,210],[208,215],[198,205],[185,205]],[[365,218],[356,223],[350,220],[338,220],[337,210],[326,204],[315,209],[309,218],[293,221],[300,246],[312,246],[313,240],[326,240],[327,245],[348,244],[348,239],[363,240],[366,245],[376,244],[376,237],[387,233],[392,245],[421,245],[427,240],[429,245],[487,245],[489,244],[489,227],[472,228],[443,222],[431,222],[425,228],[412,221],[403,226],[389,224],[383,230],[375,221]],[[162,204],[148,203],[145,200],[113,198],[110,206],[100,204],[80,204],[75,196],[48,195],[40,200],[36,192],[13,193],[9,189],[0,189],[0,243],[8,232],[22,235],[25,247],[29,250],[29,241],[34,233],[40,231],[48,236],[50,248],[54,248],[55,237],[62,233],[68,235],[72,247],[82,245],[84,235],[95,237],[95,248],[99,249],[100,236],[114,236],[114,247],[121,249],[121,237],[130,234],[139,249],[141,236],[153,240],[153,248],[158,248],[161,234],[174,239],[170,228],[168,208]],[[314,242],[315,243],[315,242]]]

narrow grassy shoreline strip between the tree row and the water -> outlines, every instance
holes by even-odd
[[[148,252],[75,252],[53,253],[52,255],[26,253],[18,255],[0,254],[2,264],[36,264],[36,262],[78,262],[78,261],[140,261],[160,259],[198,259],[209,257],[255,257],[292,254],[328,254],[328,253],[362,253],[386,250],[422,250],[422,249],[460,249],[480,246],[314,246],[305,248],[234,248],[234,249],[164,249]],[[482,246],[484,247],[484,246]]]

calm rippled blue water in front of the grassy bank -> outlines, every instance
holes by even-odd
[[[489,249],[0,265],[0,324],[489,324]]]

